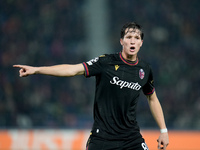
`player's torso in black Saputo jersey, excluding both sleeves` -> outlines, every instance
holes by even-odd
[[[96,76],[93,130],[105,130],[109,132],[107,136],[126,136],[130,129],[138,131],[136,104],[147,80],[148,70],[140,60],[127,64],[118,55],[112,55],[103,61],[102,71]]]

